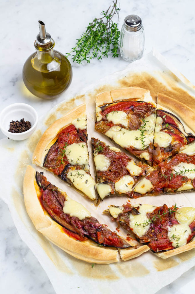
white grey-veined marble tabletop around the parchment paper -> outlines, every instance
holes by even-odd
[[[38,33],[40,19],[55,40],[55,48],[69,52],[75,40],[99,12],[111,4],[111,0],[2,0],[1,11],[1,79],[0,109],[14,102],[29,103],[39,116],[54,105],[73,96],[80,89],[105,75],[124,69],[128,63],[111,56],[103,61],[73,66],[73,81],[59,98],[44,101],[25,91],[22,67],[33,53],[33,43]],[[121,0],[121,28],[128,14],[138,14],[145,30],[144,54],[155,47],[170,60],[179,71],[195,84],[195,18],[194,0]],[[0,133],[0,138],[4,135]],[[1,168],[1,170],[3,170]],[[7,205],[0,200],[0,290],[6,294],[54,294],[54,289],[41,265],[20,239]],[[192,293],[195,283],[195,267],[167,285],[158,294]]]

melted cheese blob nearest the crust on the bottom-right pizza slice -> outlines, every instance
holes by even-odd
[[[181,247],[187,244],[187,239],[189,235],[191,235],[191,230],[186,223],[177,224],[168,228],[167,235],[173,247]]]

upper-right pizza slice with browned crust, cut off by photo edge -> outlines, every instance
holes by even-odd
[[[158,93],[153,161],[160,163],[177,154],[181,148],[195,140],[195,112],[183,103]],[[185,117],[184,120],[182,117]]]

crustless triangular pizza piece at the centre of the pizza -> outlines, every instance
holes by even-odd
[[[132,198],[134,184],[153,168],[99,139],[91,138],[91,143],[100,198],[124,195]]]

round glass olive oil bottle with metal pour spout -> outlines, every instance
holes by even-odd
[[[28,57],[23,66],[23,81],[35,96],[53,99],[70,85],[72,68],[68,59],[55,51],[54,40],[39,21],[40,33],[35,40],[36,52]]]

